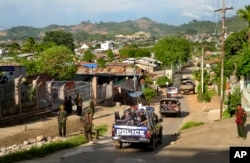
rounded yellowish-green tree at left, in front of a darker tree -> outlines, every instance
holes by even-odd
[[[65,46],[54,46],[41,53],[37,60],[38,71],[57,80],[68,80],[75,76],[77,67],[74,54]]]

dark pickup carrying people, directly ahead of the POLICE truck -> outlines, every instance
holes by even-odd
[[[169,114],[181,115],[181,103],[177,98],[163,98],[160,100],[160,114],[166,116]]]

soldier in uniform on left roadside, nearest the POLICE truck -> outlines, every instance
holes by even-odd
[[[92,141],[92,118],[89,114],[86,114],[84,118],[80,119],[83,123],[83,132],[87,141]]]

